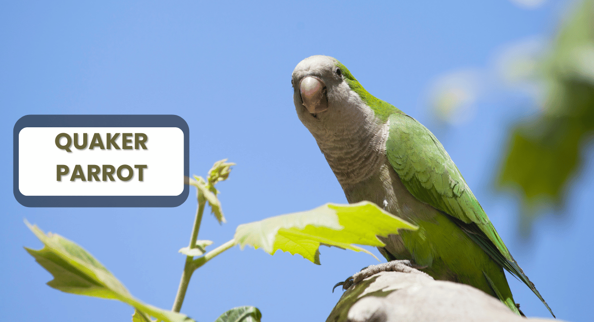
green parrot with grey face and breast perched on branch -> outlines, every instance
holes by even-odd
[[[520,314],[506,269],[553,314],[427,128],[369,94],[329,56],[299,62],[291,83],[297,115],[349,203],[372,201],[419,226],[384,239],[379,249],[388,261],[407,261],[434,279],[474,286]]]

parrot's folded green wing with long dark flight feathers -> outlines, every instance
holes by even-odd
[[[553,314],[511,257],[440,141],[408,115],[394,113],[388,122],[388,161],[407,190],[418,200],[448,214],[495,262],[526,283]]]

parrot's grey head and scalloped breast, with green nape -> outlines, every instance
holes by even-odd
[[[291,82],[297,115],[343,188],[375,173],[385,159],[381,156],[386,155],[388,132],[386,118],[377,116],[381,113],[376,115],[373,107],[391,105],[372,97],[344,65],[328,56],[299,62]]]

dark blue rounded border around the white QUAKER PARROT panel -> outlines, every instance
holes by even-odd
[[[26,207],[177,207],[188,198],[179,195],[23,195],[18,190],[18,134],[26,127],[175,127],[184,132],[184,175],[189,176],[189,128],[177,115],[25,115],[12,131],[13,191]]]

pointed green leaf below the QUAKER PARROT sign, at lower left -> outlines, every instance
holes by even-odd
[[[53,280],[48,282],[52,288],[72,294],[116,299],[162,321],[194,321],[186,315],[162,310],[134,298],[112,273],[82,247],[58,234],[46,235],[26,220],[25,223],[44,244],[41,250],[27,247],[25,250],[53,275]]]

